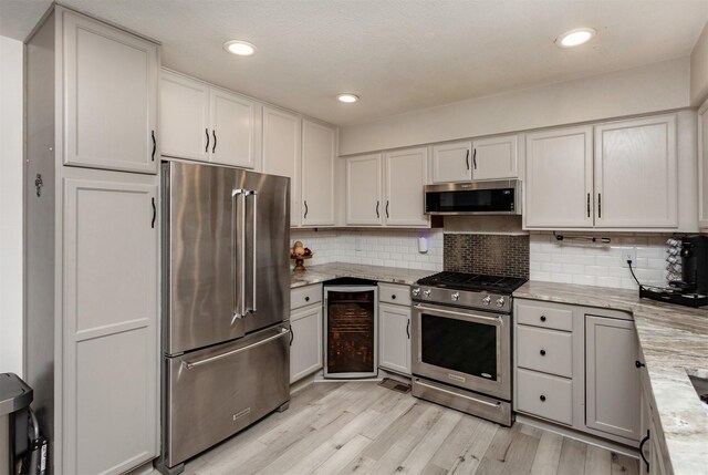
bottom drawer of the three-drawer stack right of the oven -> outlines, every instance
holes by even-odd
[[[518,369],[517,411],[572,425],[573,382]]]

